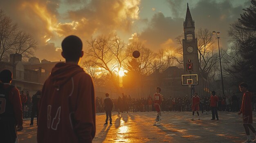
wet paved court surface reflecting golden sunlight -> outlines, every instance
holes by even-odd
[[[153,126],[156,114],[114,112],[113,125],[104,126],[105,114],[99,113],[93,143],[240,143],[246,140],[242,116],[237,112],[219,112],[219,121],[211,121],[211,114],[200,114],[201,120],[191,121],[191,112],[164,112],[159,127]],[[256,112],[253,114],[256,122]],[[30,127],[29,120],[24,122],[24,130],[18,133],[20,143],[36,143],[36,126]]]

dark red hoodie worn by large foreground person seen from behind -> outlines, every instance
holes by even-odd
[[[95,135],[94,86],[76,64],[58,63],[38,103],[38,143],[91,143]]]

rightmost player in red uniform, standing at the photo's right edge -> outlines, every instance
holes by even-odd
[[[241,83],[239,88],[244,93],[241,110],[238,112],[238,115],[243,114],[243,125],[247,136],[247,140],[243,143],[256,143],[256,139],[252,141],[249,131],[250,129],[256,137],[256,131],[252,126],[252,93],[248,91],[248,84],[246,83]]]

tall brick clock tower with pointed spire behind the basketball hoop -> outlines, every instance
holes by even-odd
[[[186,74],[198,74],[199,75],[199,61],[198,61],[198,42],[195,38],[195,21],[193,21],[191,13],[189,11],[189,4],[186,9],[186,19],[183,23],[184,27],[184,39],[183,45],[183,61],[184,71]],[[193,70],[187,71],[186,64],[192,63]]]

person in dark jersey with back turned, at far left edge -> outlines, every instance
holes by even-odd
[[[18,143],[17,130],[23,129],[20,93],[17,88],[10,85],[10,70],[2,70],[0,80],[0,142]]]

